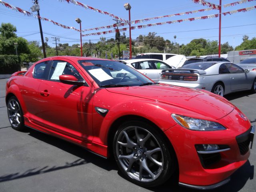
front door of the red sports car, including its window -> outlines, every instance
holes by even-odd
[[[48,80],[43,80],[38,89],[41,109],[37,116],[41,121],[37,123],[72,138],[91,140],[94,88],[86,82],[83,86],[64,84],[58,78],[68,74],[84,81],[82,71],[71,63],[53,60]]]

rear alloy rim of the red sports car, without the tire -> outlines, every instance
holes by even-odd
[[[22,121],[20,105],[15,99],[10,99],[7,104],[8,118],[12,127],[16,128]]]

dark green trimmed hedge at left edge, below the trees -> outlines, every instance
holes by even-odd
[[[16,55],[0,55],[0,74],[12,74],[20,70],[20,57]]]

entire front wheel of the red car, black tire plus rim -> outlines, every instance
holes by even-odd
[[[114,135],[113,154],[119,169],[128,180],[143,187],[161,185],[174,174],[178,166],[170,148],[159,130],[138,120],[121,124]]]

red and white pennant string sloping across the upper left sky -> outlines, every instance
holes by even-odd
[[[31,13],[31,12],[25,11],[25,10],[23,10],[23,9],[21,9],[21,8],[14,7],[14,6],[12,6],[11,4],[8,4],[8,3],[6,3],[6,2],[4,2],[4,1],[2,1],[2,0],[0,0],[0,4],[6,6],[6,7],[9,8],[9,9],[12,9],[12,10],[15,10],[15,11],[17,11],[17,12],[23,13],[23,14],[25,14],[25,15],[27,15],[27,16],[33,16],[33,17],[35,17],[35,18],[39,18],[40,20],[52,22],[54,25],[60,26],[60,27],[62,27],[62,28],[64,28],[64,29],[73,29],[73,30],[76,30],[76,31],[79,31],[79,32],[80,32],[80,30],[78,30],[78,29],[76,29],[76,28],[74,28],[74,27],[69,27],[69,26],[66,26],[66,25],[62,25],[62,24],[57,23],[57,22],[55,22],[55,21],[53,21],[53,20],[50,20],[50,19],[47,19],[47,18],[38,16],[38,15],[33,14],[33,13]]]

